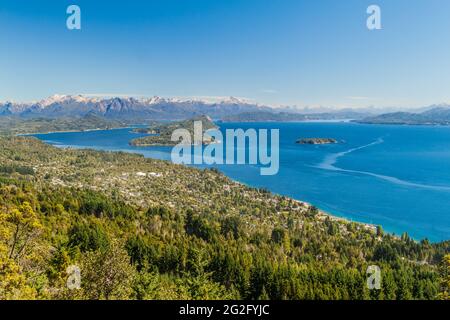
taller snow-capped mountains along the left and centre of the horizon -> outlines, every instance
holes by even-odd
[[[243,112],[270,111],[239,98],[223,98],[211,101],[202,98],[93,98],[82,95],[54,95],[33,103],[0,103],[0,116],[26,118],[80,117],[88,113],[122,120],[173,120],[197,115],[219,119]]]

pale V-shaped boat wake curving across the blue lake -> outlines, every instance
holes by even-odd
[[[369,148],[378,144],[384,143],[384,140],[382,138],[378,138],[376,141],[369,143],[367,145],[363,145],[357,148],[352,148],[347,151],[333,153],[327,155],[324,160],[315,166],[316,168],[323,169],[323,170],[329,170],[329,171],[336,171],[336,172],[344,172],[344,173],[351,173],[351,174],[361,174],[366,175],[370,177],[374,177],[377,179],[381,179],[396,185],[406,186],[406,187],[414,187],[414,188],[422,188],[422,189],[429,189],[429,190],[438,190],[438,191],[448,191],[450,192],[450,187],[448,186],[436,186],[436,185],[428,185],[428,184],[422,184],[422,183],[415,183],[411,181],[402,180],[396,177],[392,176],[386,176],[382,174],[377,174],[373,172],[368,171],[359,171],[359,170],[350,170],[350,169],[343,169],[336,166],[336,163],[339,158],[344,157],[350,153],[353,153],[355,151],[359,151],[365,148]]]

